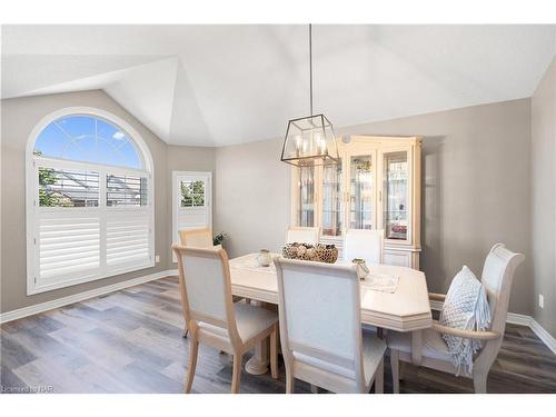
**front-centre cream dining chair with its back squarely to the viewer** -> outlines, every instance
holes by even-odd
[[[384,390],[386,342],[363,332],[355,266],[278,258],[286,393],[295,378],[335,393]]]

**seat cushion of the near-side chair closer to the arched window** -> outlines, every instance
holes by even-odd
[[[266,308],[251,306],[244,302],[236,302],[234,305],[234,312],[236,315],[238,334],[241,338],[241,341],[244,342],[249,341],[254,337],[258,336],[259,334],[278,322],[278,314],[276,311],[267,310]],[[203,321],[199,321],[198,326],[202,330],[212,332],[224,338],[228,338],[228,330],[221,327]]]

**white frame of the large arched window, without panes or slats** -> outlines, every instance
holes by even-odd
[[[97,117],[113,123],[119,129],[125,131],[137,147],[139,156],[141,157],[143,169],[132,169],[118,166],[107,166],[100,163],[80,162],[75,160],[56,159],[48,157],[37,157],[33,155],[34,143],[42,130],[52,121],[67,116],[89,116]],[[59,281],[49,278],[49,282],[41,282],[39,279],[39,250],[37,249],[38,241],[38,227],[39,214],[39,183],[38,183],[38,169],[39,167],[50,167],[59,169],[80,169],[93,170],[99,172],[99,207],[71,207],[61,208],[53,207],[42,210],[48,212],[67,212],[72,210],[76,214],[85,212],[99,212],[101,221],[106,221],[107,214],[133,210],[137,212],[148,211],[149,216],[149,260],[148,262],[133,264],[133,265],[119,265],[116,267],[108,267],[106,258],[102,260],[102,248],[106,247],[106,237],[100,240],[101,247],[101,264],[100,268],[76,272],[75,279],[60,276]],[[69,107],[57,110],[43,117],[39,123],[31,131],[26,150],[26,215],[27,215],[27,295],[33,295],[44,291],[50,291],[58,288],[66,288],[78,284],[89,282],[97,279],[113,277],[117,275],[131,272],[155,266],[155,166],[152,157],[147,143],[141,136],[128,122],[108,111],[92,108],[92,107]],[[147,177],[147,206],[143,207],[106,207],[106,175],[133,175]],[[76,210],[76,211],[73,211]]]

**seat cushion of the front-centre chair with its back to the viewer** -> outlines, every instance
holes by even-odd
[[[363,366],[365,370],[365,381],[370,384],[380,360],[386,351],[386,342],[379,339],[375,332],[363,334]],[[332,374],[341,375],[346,378],[355,379],[355,370],[339,365],[294,351],[294,357],[304,364],[315,366],[319,369],[328,370]]]

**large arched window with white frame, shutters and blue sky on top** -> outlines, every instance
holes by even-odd
[[[152,267],[152,160],[91,108],[44,118],[27,150],[28,294]]]

